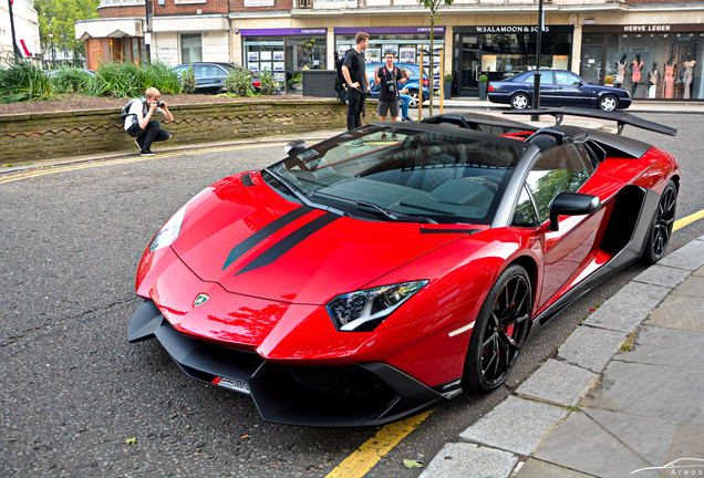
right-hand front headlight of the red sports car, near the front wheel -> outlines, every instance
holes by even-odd
[[[427,283],[403,282],[338,295],[328,303],[328,313],[339,331],[370,332]]]

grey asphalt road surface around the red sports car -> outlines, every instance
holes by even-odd
[[[701,116],[646,117],[680,129],[634,134],[680,158],[677,218],[704,209]],[[156,341],[126,342],[149,238],[210,183],[280,157],[280,145],[252,145],[0,176],[0,476],[324,476],[374,436],[377,428],[267,424],[248,397],[187,378]],[[671,250],[704,235],[702,222],[677,231]],[[367,476],[417,476],[404,458],[429,461],[640,270],[604,281],[534,333],[507,387],[436,408]]]

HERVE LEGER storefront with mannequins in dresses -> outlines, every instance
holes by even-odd
[[[634,98],[700,100],[703,45],[702,24],[584,25],[580,73]]]

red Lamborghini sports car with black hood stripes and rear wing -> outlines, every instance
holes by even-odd
[[[290,146],[158,231],[128,330],[284,424],[379,425],[498,387],[532,324],[663,256],[680,186],[641,141],[476,114]]]

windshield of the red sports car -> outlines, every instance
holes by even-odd
[[[263,177],[287,197],[297,196],[294,187],[356,217],[490,224],[525,147],[474,136],[371,125],[291,156]]]

